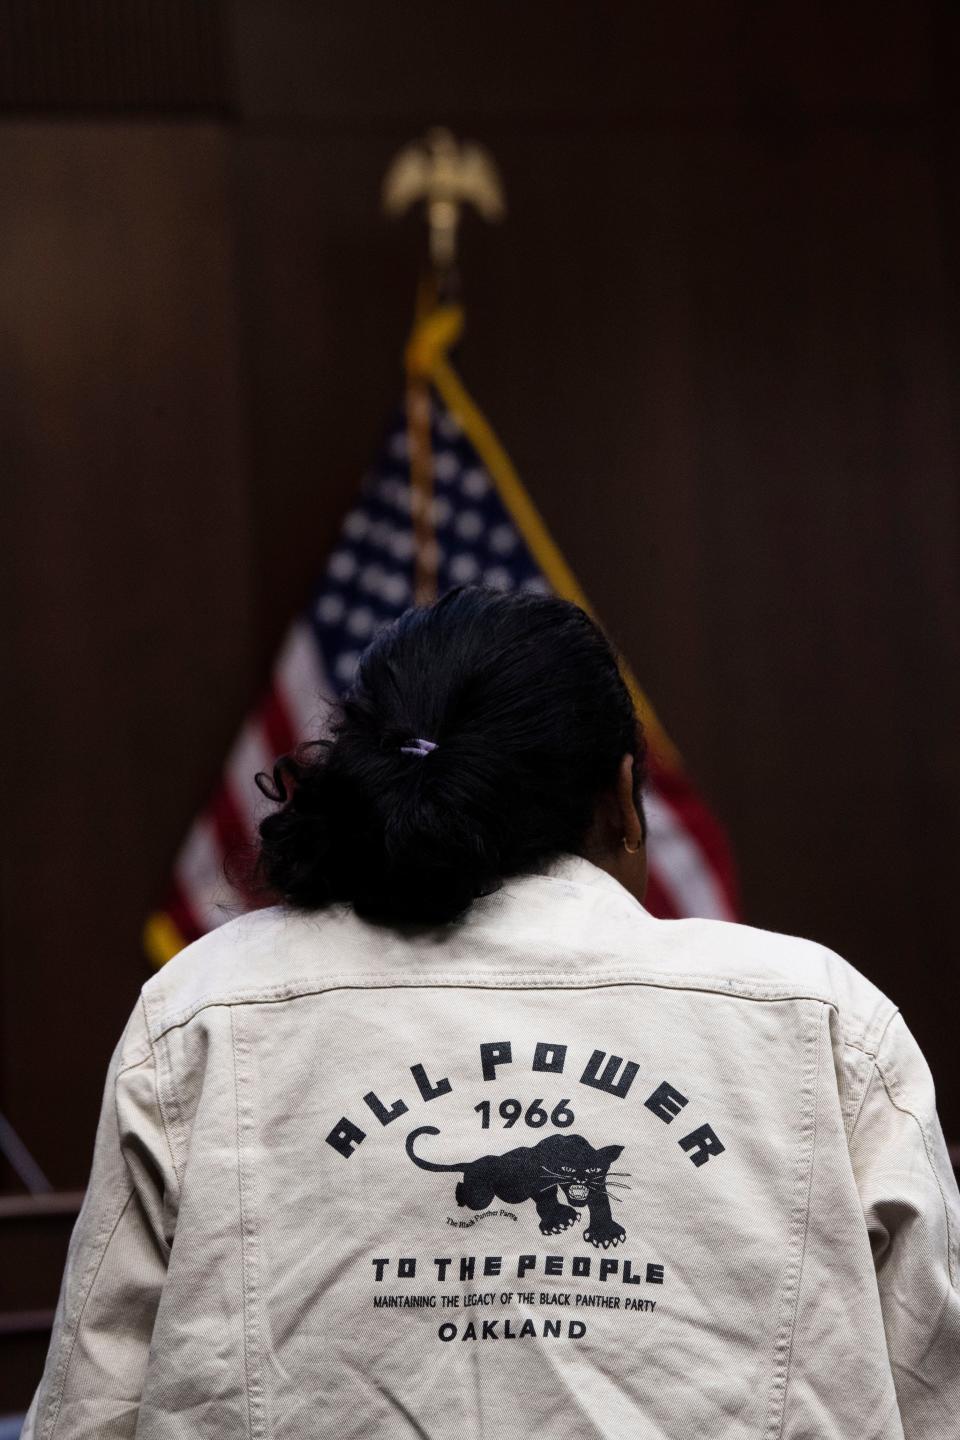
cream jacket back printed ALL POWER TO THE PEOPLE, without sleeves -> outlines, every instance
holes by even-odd
[[[902,1433],[825,976],[583,899],[531,877],[456,952],[261,920],[229,994],[157,999],[138,1434]]]

